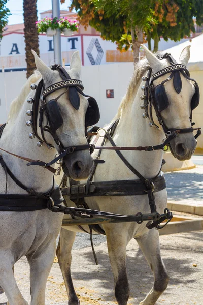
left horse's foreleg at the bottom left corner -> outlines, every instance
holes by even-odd
[[[28,303],[23,298],[14,278],[12,264],[8,259],[0,260],[0,285],[5,292],[8,303],[10,305],[28,305]]]

